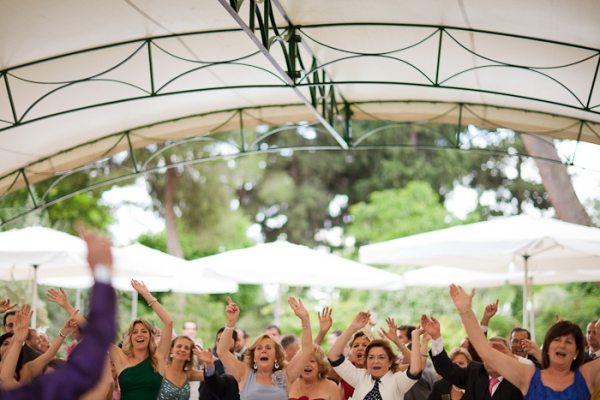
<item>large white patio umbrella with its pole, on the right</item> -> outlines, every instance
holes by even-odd
[[[361,262],[444,265],[487,272],[521,272],[524,281],[523,326],[530,271],[567,275],[600,268],[600,229],[525,215],[455,226],[363,246]],[[574,276],[574,275],[571,275]],[[450,279],[447,283],[451,283]],[[533,307],[529,307],[533,313]],[[531,314],[533,317],[533,314]],[[532,327],[533,327],[533,318]],[[532,329],[532,334],[534,329]]]

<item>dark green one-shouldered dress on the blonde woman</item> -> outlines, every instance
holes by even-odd
[[[121,400],[156,400],[162,376],[152,368],[152,359],[146,358],[119,374]]]

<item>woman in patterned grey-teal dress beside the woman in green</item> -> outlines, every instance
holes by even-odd
[[[200,356],[200,350],[187,336],[177,336],[171,342],[171,352],[164,369],[164,379],[158,392],[158,400],[188,400],[190,382],[203,381],[204,373],[194,371],[194,355]]]

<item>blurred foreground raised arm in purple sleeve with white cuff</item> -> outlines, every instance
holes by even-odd
[[[90,300],[85,343],[78,346],[66,365],[40,375],[31,383],[0,394],[0,400],[75,400],[90,390],[102,375],[102,361],[115,337],[115,292],[110,286],[112,256],[110,243],[92,234],[83,234],[88,263],[95,283]]]

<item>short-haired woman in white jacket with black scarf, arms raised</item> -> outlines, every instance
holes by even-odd
[[[411,334],[415,351],[411,352],[408,370],[399,371],[396,363],[397,356],[386,340],[372,340],[368,344],[364,356],[367,367],[365,370],[352,365],[342,352],[345,341],[365,327],[370,319],[371,313],[364,311],[358,313],[342,336],[329,349],[327,353],[329,362],[338,375],[354,387],[353,399],[402,400],[404,394],[421,377],[421,354],[418,349],[420,348],[419,336],[423,333],[423,329],[417,328]]]

